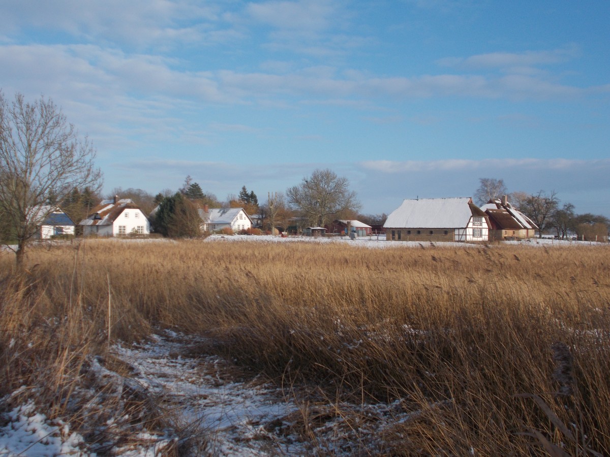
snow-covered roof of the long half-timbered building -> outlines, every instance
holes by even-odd
[[[390,213],[384,227],[459,228],[473,215],[485,216],[470,197],[407,199]]]

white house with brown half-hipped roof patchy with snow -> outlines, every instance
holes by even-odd
[[[132,199],[102,200],[87,218],[79,222],[83,235],[124,236],[148,235],[150,222]]]

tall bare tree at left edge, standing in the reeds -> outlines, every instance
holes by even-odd
[[[30,104],[22,94],[9,103],[0,91],[0,209],[15,227],[16,266],[37,227],[74,188],[99,190],[95,149],[79,138],[60,108],[41,97]]]

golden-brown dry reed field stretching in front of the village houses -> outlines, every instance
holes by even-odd
[[[304,434],[320,399],[346,416],[342,402],[396,402],[412,414],[376,453],[610,454],[610,246],[92,239],[31,250],[23,277],[13,263],[0,254],[0,408],[34,399],[91,441],[118,409],[163,427],[154,399],[111,403],[88,367],[121,370],[110,342],[168,327],[309,386]]]

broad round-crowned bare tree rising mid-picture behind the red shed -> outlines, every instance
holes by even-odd
[[[312,224],[323,226],[328,216],[341,211],[360,209],[356,193],[350,191],[350,181],[338,177],[330,169],[316,169],[309,178],[286,191],[289,204],[300,211]]]

